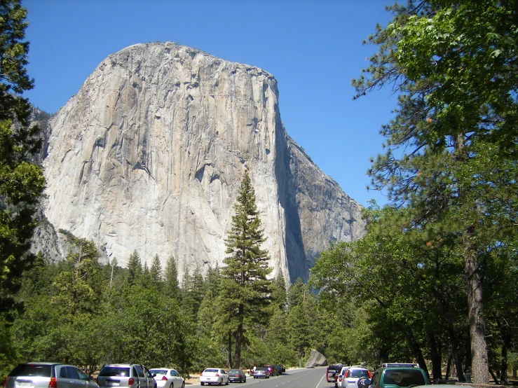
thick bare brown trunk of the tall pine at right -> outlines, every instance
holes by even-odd
[[[463,230],[463,254],[466,288],[468,291],[468,318],[470,321],[472,382],[489,384],[487,359],[486,323],[482,317],[482,282],[480,279],[477,252],[473,244],[475,228]]]

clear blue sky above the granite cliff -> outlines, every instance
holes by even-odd
[[[396,106],[390,90],[353,101],[352,78],[376,52],[362,41],[386,26],[393,0],[22,0],[28,10],[32,104],[55,113],[108,55],[174,41],[261,67],[278,81],[282,122],[325,174],[362,205],[369,158]]]

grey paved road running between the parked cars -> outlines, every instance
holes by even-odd
[[[228,388],[334,388],[334,383],[325,380],[327,368],[292,369],[280,376],[269,379],[254,379],[247,376],[245,384],[231,382]],[[189,384],[186,388],[201,387],[200,384]],[[205,384],[204,388],[207,387]],[[209,387],[212,387],[210,385]]]

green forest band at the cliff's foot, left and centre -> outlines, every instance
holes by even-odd
[[[114,362],[173,366],[185,374],[232,365],[235,338],[219,319],[225,303],[218,266],[208,266],[205,276],[200,268],[186,270],[180,287],[172,257],[165,268],[158,256],[144,260],[136,252],[128,268],[116,260],[102,265],[93,242],[69,238],[73,249],[66,260],[39,254],[23,275],[15,296],[23,308],[4,326],[1,373],[21,361],[66,362],[87,373]],[[287,288],[280,273],[271,289],[267,324],[245,325],[242,368],[297,366],[311,348],[332,361],[346,358],[341,327],[352,323],[346,323],[352,312],[339,318],[323,310],[306,284],[298,279]]]

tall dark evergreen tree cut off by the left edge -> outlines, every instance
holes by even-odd
[[[22,97],[34,87],[25,68],[26,15],[20,1],[0,1],[0,314],[17,306],[13,295],[34,260],[28,253],[32,216],[45,187],[43,169],[32,162],[39,128],[30,127],[29,102]]]

